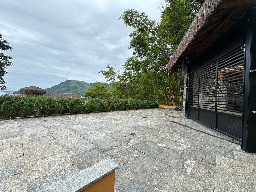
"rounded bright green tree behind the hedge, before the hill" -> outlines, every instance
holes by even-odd
[[[99,96],[99,98],[104,98],[109,97],[110,95],[111,90],[109,90],[107,86],[102,83],[95,83],[90,89],[87,89],[84,92],[85,97],[92,98],[95,98],[96,96]]]

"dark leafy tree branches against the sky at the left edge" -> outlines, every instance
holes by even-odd
[[[8,42],[2,39],[2,35],[0,34],[0,50],[2,51],[10,51],[12,47],[8,45]],[[3,76],[7,74],[6,71],[7,66],[11,66],[13,63],[10,61],[12,58],[8,55],[4,55],[0,52],[0,84],[4,85],[6,81],[4,80]],[[5,86],[3,86],[5,87]]]

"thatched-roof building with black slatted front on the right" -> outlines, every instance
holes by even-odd
[[[256,153],[256,0],[206,0],[166,66],[175,68],[185,116]]]

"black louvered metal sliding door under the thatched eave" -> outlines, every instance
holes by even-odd
[[[190,72],[188,117],[241,139],[243,79],[241,46]]]

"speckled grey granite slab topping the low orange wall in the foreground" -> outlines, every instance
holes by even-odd
[[[80,192],[93,183],[99,181],[103,177],[107,176],[108,174],[112,173],[117,168],[118,165],[116,165],[113,161],[110,159],[105,159],[40,190],[39,192]]]

